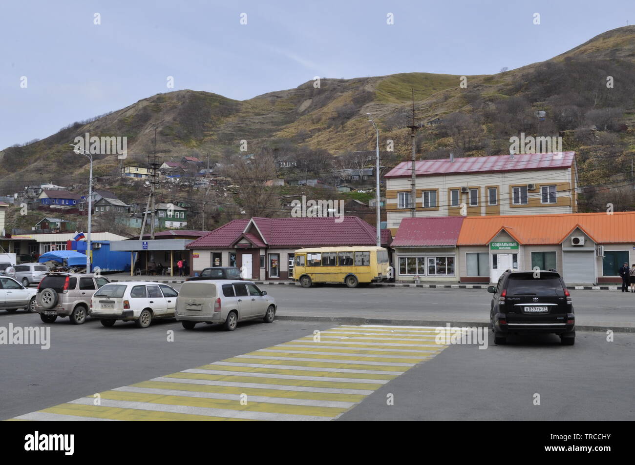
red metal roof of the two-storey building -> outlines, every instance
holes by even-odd
[[[551,154],[517,154],[491,157],[464,157],[449,159],[419,160],[415,162],[417,176],[441,176],[456,173],[496,173],[502,171],[536,171],[540,169],[565,169],[572,166],[575,152],[556,152]],[[405,178],[411,175],[411,162],[401,162],[384,178]]]

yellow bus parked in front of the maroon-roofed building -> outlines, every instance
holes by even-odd
[[[312,247],[295,251],[293,278],[302,287],[313,283],[344,283],[348,287],[388,278],[384,247]]]

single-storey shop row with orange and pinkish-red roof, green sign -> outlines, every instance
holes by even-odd
[[[616,283],[635,263],[635,212],[405,219],[392,247],[401,282],[495,283],[507,269],[538,267],[570,285]],[[452,268],[439,268],[444,260]]]

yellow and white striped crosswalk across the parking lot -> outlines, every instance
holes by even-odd
[[[446,348],[434,327],[342,325],[15,417],[328,421]]]

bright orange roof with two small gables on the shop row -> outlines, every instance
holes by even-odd
[[[468,216],[457,245],[484,246],[502,230],[519,244],[555,245],[575,228],[580,228],[596,244],[629,244],[635,242],[635,212]]]

